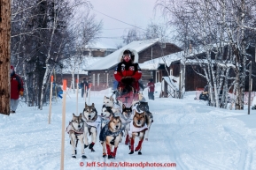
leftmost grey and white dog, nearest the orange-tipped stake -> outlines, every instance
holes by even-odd
[[[82,115],[76,116],[73,114],[73,119],[69,122],[68,126],[66,127],[66,132],[69,134],[70,143],[72,145],[72,158],[76,159],[76,145],[77,140],[81,141],[81,158],[86,159],[87,157],[84,155],[84,122],[82,120]]]

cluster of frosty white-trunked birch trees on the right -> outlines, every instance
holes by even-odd
[[[203,67],[204,73],[198,72],[198,74],[208,81],[213,106],[227,106],[225,103],[231,88],[229,85],[232,85],[237,96],[236,109],[243,109],[246,47],[253,41],[252,37],[246,36],[244,30],[247,27],[253,30],[253,27],[246,27],[244,23],[255,23],[253,17],[255,2],[251,0],[185,0],[180,4],[175,4],[174,0],[158,2],[163,12],[172,17],[172,23],[178,28],[179,38],[185,40],[185,33],[188,33],[193,48],[198,48],[200,51],[203,49],[206,52],[205,64],[201,64],[200,59],[203,58],[196,59]],[[186,26],[189,27],[188,30]],[[235,68],[235,82],[234,78],[230,78],[232,68]],[[226,97],[221,97],[220,100],[221,92]]]

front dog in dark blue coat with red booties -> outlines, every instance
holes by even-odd
[[[118,144],[121,138],[121,121],[120,116],[112,116],[110,122],[100,131],[99,140],[103,147],[103,157],[108,155],[108,159],[115,159]],[[114,149],[112,152],[112,145]],[[106,152],[105,152],[106,149]]]

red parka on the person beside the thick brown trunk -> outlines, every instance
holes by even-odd
[[[18,100],[20,91],[24,91],[23,81],[17,74],[14,73],[11,77],[11,99]]]

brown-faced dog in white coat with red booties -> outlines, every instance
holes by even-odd
[[[129,154],[134,153],[134,144],[135,144],[135,138],[139,137],[139,144],[136,146],[136,152],[138,152],[139,155],[142,154],[142,144],[144,142],[144,135],[145,131],[148,129],[148,126],[146,124],[146,114],[138,113],[135,111],[135,115],[133,118],[133,121],[130,122],[130,129],[129,129],[129,137],[130,137],[130,152]]]

